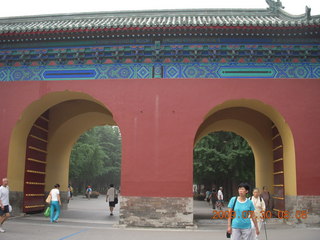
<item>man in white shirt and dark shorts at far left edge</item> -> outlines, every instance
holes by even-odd
[[[9,213],[9,186],[8,179],[2,179],[2,186],[0,187],[0,233],[4,233],[2,224],[10,217]]]

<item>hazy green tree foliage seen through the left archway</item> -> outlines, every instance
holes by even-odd
[[[70,156],[69,181],[83,192],[87,185],[105,191],[120,184],[121,135],[118,127],[95,127],[80,136]]]

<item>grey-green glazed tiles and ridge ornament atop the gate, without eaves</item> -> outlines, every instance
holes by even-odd
[[[267,2],[268,9],[128,11],[0,18],[0,34],[130,27],[320,25],[320,15],[311,16],[307,11],[302,15],[291,15],[282,10],[279,2]]]

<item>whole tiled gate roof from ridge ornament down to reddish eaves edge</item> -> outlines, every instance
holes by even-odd
[[[266,0],[267,9],[198,9],[99,12],[42,15],[0,19],[0,38],[61,34],[126,34],[129,32],[185,30],[290,30],[319,34],[320,15],[302,15],[282,10],[278,1]],[[272,34],[271,34],[272,35]]]

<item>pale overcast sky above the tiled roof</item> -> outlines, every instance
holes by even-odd
[[[282,0],[285,11],[320,15],[320,0]],[[0,0],[0,18],[12,16],[155,9],[267,8],[265,0]]]

